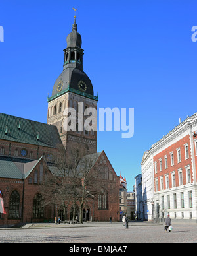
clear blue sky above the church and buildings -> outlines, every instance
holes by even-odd
[[[104,150],[129,191],[141,160],[163,135],[196,113],[196,1],[1,1],[0,112],[47,122],[47,95],[62,72],[74,11],[83,67],[99,108],[134,108],[135,134],[99,131]]]

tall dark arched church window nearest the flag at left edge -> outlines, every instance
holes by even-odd
[[[14,190],[9,201],[9,218],[19,218],[20,195]]]

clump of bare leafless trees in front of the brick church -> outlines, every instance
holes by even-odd
[[[79,222],[83,222],[83,207],[87,201],[97,197],[103,184],[98,179],[99,164],[95,164],[99,153],[87,155],[81,144],[76,143],[69,152],[60,146],[53,164],[49,164],[50,174],[43,182],[45,201],[55,207],[63,207],[64,212],[72,204],[75,221],[76,205],[79,205]]]

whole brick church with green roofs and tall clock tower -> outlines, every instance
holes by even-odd
[[[97,110],[97,102],[91,80],[83,72],[81,35],[75,18],[64,49],[64,69],[48,98],[47,124],[0,113],[0,191],[6,212],[0,213],[0,226],[53,221],[57,214],[62,214],[54,205],[40,207],[45,200],[41,187],[45,174],[51,175],[58,148],[62,145],[70,152],[78,144],[88,156],[96,156],[92,169],[100,164],[105,170],[100,176],[105,189],[84,205],[83,220],[106,221],[112,216],[112,220],[118,221],[119,177],[105,152],[97,152],[97,131],[79,129],[79,115],[76,129],[68,131],[64,126],[66,108],[79,113],[79,103],[83,103],[83,111],[89,107]],[[78,214],[76,202],[77,217]],[[72,204],[64,219],[70,220],[71,216]]]

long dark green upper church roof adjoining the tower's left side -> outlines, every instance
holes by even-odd
[[[54,125],[0,113],[0,139],[56,148],[62,144]]]

